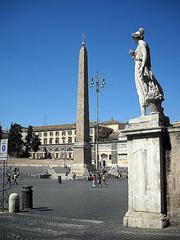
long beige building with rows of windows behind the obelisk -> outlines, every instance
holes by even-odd
[[[114,164],[119,167],[127,166],[127,139],[121,132],[124,127],[124,123],[113,119],[99,124],[98,156],[101,167],[111,167]],[[33,129],[41,140],[40,150],[36,153],[35,158],[43,159],[47,153],[47,158],[73,161],[76,124],[36,126]],[[89,136],[92,164],[95,164],[97,149],[96,123],[90,123]]]

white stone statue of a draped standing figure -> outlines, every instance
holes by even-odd
[[[164,94],[151,71],[150,48],[144,41],[144,29],[140,28],[132,33],[132,38],[137,43],[137,48],[135,51],[129,50],[129,54],[135,61],[135,83],[141,115],[146,115],[147,107],[150,107],[150,112],[163,114],[161,103],[164,100]]]

